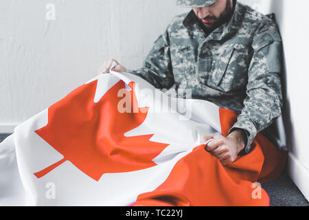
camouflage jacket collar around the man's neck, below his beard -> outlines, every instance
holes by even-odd
[[[227,36],[235,34],[242,25],[242,21],[244,19],[244,14],[246,11],[246,6],[242,5],[242,3],[239,3],[237,1],[231,20],[227,23],[220,25],[220,27],[216,28],[216,30],[211,32],[209,34],[211,36],[211,39],[221,40]],[[185,19],[183,20],[183,25],[186,28],[190,29],[194,28],[194,25],[199,26],[198,19],[193,10],[191,10],[189,14],[187,14],[187,17],[185,17]]]

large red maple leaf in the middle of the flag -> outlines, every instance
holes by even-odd
[[[49,107],[47,126],[35,132],[63,159],[34,173],[36,177],[43,177],[67,160],[96,181],[104,173],[124,173],[157,165],[152,159],[169,144],[151,142],[153,135],[124,136],[142,124],[148,113],[148,108],[138,107],[135,83],[129,84],[131,91],[126,90],[126,96],[131,97],[131,113],[120,113],[117,109],[123,99],[117,96],[119,89],[125,88],[123,81],[95,103],[97,84],[95,80],[82,85]]]

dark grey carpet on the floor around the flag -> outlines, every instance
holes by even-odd
[[[8,135],[0,134],[0,142]],[[262,187],[271,198],[271,206],[309,206],[306,198],[286,174],[286,170],[278,179],[263,184]]]

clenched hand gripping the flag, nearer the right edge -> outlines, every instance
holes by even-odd
[[[237,130],[227,137],[221,135],[205,135],[202,137],[203,143],[213,139],[206,146],[206,151],[217,157],[222,165],[229,165],[236,161],[238,153],[244,149],[244,136],[242,131]]]

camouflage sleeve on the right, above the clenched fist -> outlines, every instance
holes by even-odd
[[[247,98],[238,121],[229,133],[242,129],[247,134],[245,153],[260,131],[282,115],[282,40],[277,25],[264,25],[253,37],[253,56],[248,72]]]

